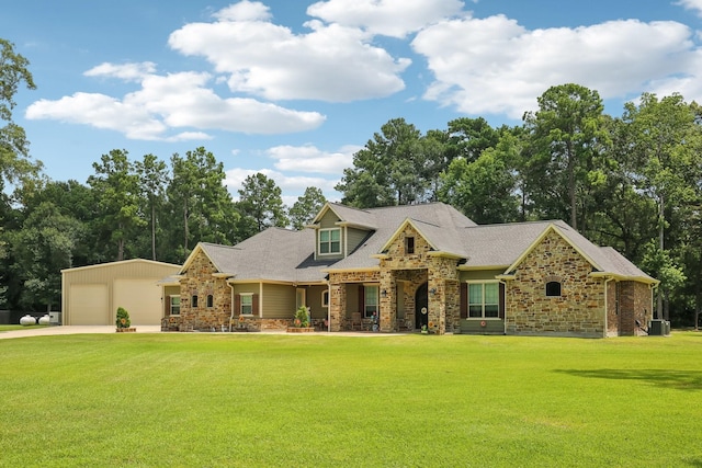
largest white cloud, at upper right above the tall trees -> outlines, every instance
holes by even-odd
[[[575,82],[603,98],[627,96],[653,81],[699,76],[692,32],[676,22],[612,21],[588,27],[529,31],[503,15],[430,26],[412,47],[435,81],[424,98],[467,114],[520,118],[536,96]]]

